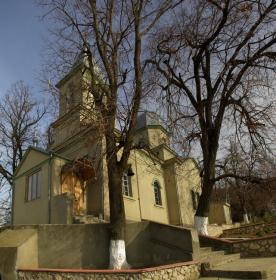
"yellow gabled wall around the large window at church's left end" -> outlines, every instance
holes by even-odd
[[[40,158],[41,155],[36,155],[34,158]],[[43,157],[42,157],[43,158]],[[44,158],[43,158],[44,159]],[[48,161],[42,161],[41,165],[37,161],[28,161],[25,162],[22,166],[22,170],[29,167],[29,171],[25,174],[22,174],[14,180],[14,210],[13,210],[13,224],[45,224],[49,222],[48,219]],[[35,169],[32,167],[36,166]],[[23,168],[24,167],[24,168]],[[20,171],[22,171],[20,170]],[[26,200],[26,190],[28,176],[32,175],[34,171],[41,170],[41,195],[40,198],[27,201]]]

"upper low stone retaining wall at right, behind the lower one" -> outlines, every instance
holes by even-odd
[[[242,234],[256,234],[258,232],[273,232],[276,231],[276,223],[258,223],[252,225],[241,226],[238,228],[231,228],[223,230],[221,237],[237,236]]]

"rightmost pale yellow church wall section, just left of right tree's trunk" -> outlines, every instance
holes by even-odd
[[[176,167],[177,193],[180,205],[181,223],[194,223],[195,210],[191,190],[201,193],[199,170],[192,159],[185,160]]]

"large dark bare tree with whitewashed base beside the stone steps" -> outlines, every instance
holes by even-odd
[[[183,137],[198,141],[202,151],[195,215],[201,234],[208,234],[214,184],[230,175],[217,176],[222,134],[236,133],[240,142],[263,149],[272,143],[275,12],[275,0],[196,0],[184,3],[174,22],[156,34],[156,56],[148,62],[160,75],[172,124],[185,127]]]

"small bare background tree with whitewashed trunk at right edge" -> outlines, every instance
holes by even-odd
[[[245,224],[249,223],[248,210],[250,208],[251,212],[253,210],[251,205],[259,209],[269,209],[264,205],[269,206],[273,202],[274,194],[276,194],[275,189],[273,190],[274,181],[271,180],[275,175],[274,168],[275,163],[267,154],[255,150],[254,146],[245,153],[237,142],[231,141],[225,157],[224,169],[226,174],[230,173],[234,176],[225,180],[230,186],[231,202],[233,205],[239,204]],[[258,182],[258,179],[263,180]],[[256,205],[260,194],[263,198],[266,197],[266,201],[263,203],[259,200]],[[257,213],[257,211],[254,212]]]

